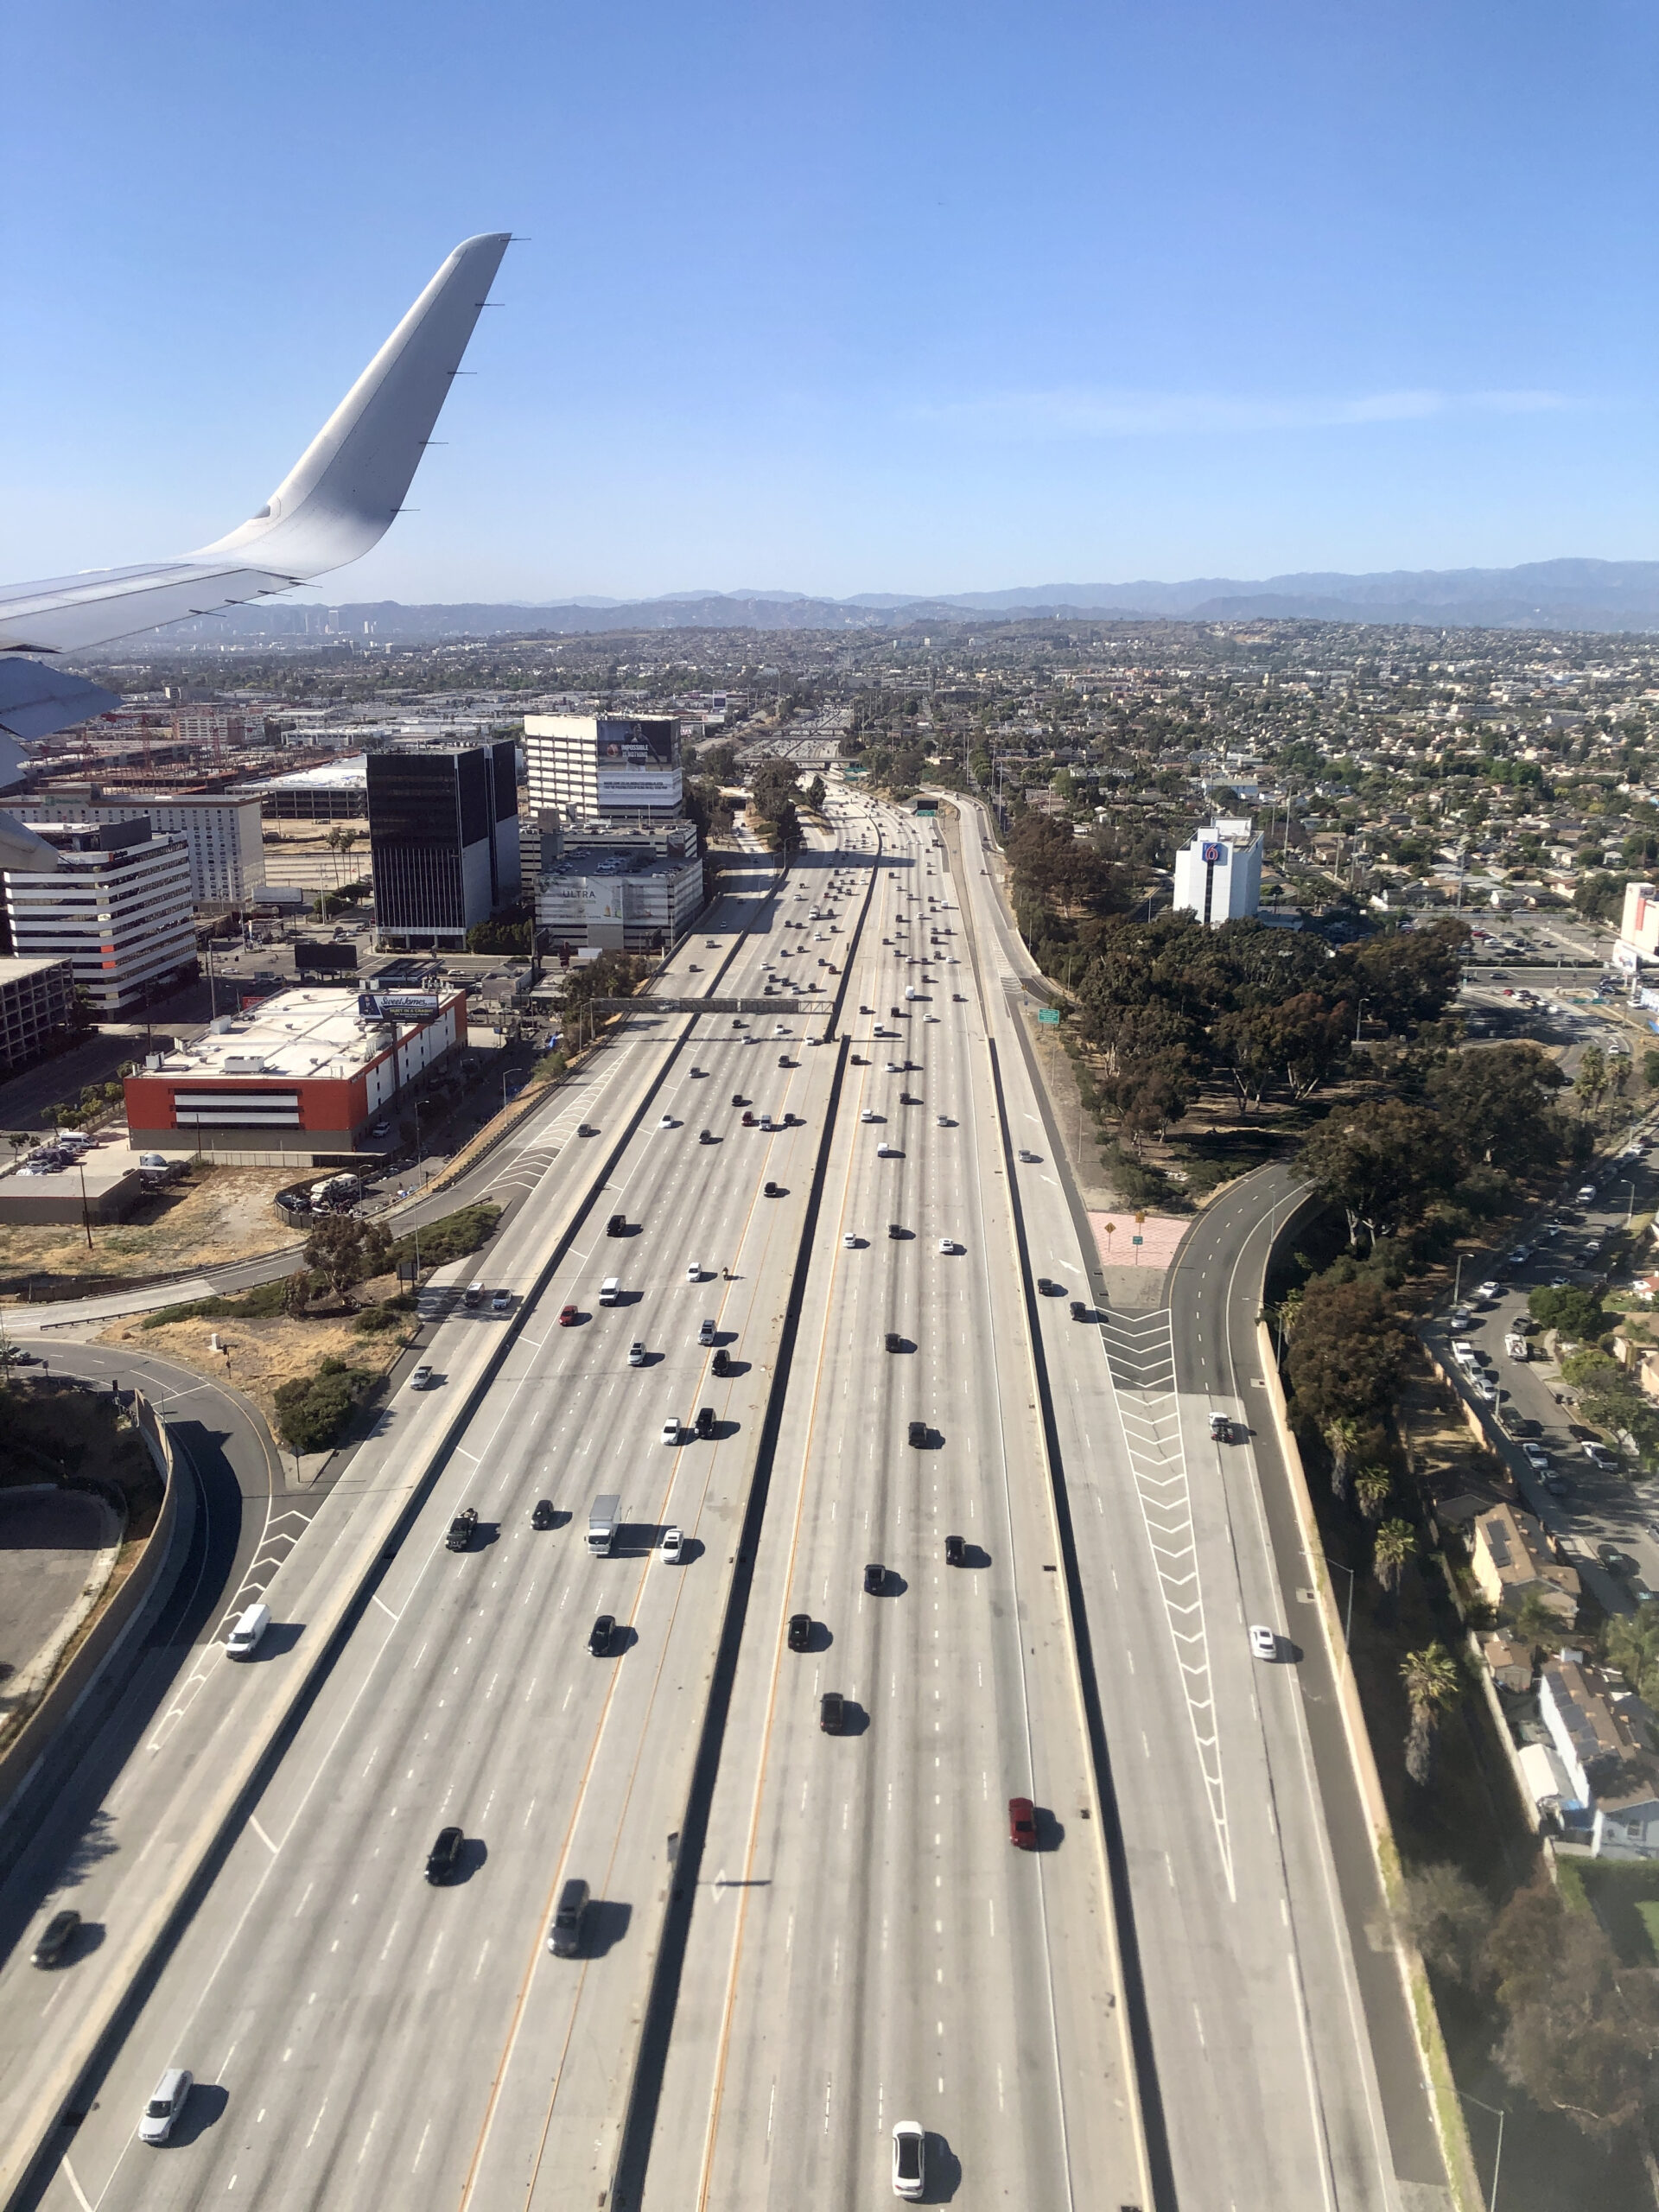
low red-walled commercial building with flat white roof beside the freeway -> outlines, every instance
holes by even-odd
[[[126,1077],[128,1144],[239,1168],[345,1166],[465,1042],[465,991],[279,991]]]

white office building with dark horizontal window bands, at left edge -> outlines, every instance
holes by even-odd
[[[0,876],[20,960],[69,960],[100,1022],[144,1004],[195,969],[190,854],[148,821],[46,823],[58,869]]]

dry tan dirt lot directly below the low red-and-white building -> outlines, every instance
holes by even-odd
[[[0,1276],[148,1276],[252,1259],[292,1245],[294,1232],[270,1203],[294,1168],[190,1168],[186,1181],[146,1199],[122,1223],[0,1228]]]

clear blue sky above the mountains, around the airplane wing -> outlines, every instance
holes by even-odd
[[[511,228],[332,597],[1657,557],[1635,0],[60,0],[0,135],[0,575],[263,502]]]

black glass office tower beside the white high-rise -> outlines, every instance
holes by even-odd
[[[369,856],[383,938],[458,947],[520,891],[513,741],[372,752]]]

